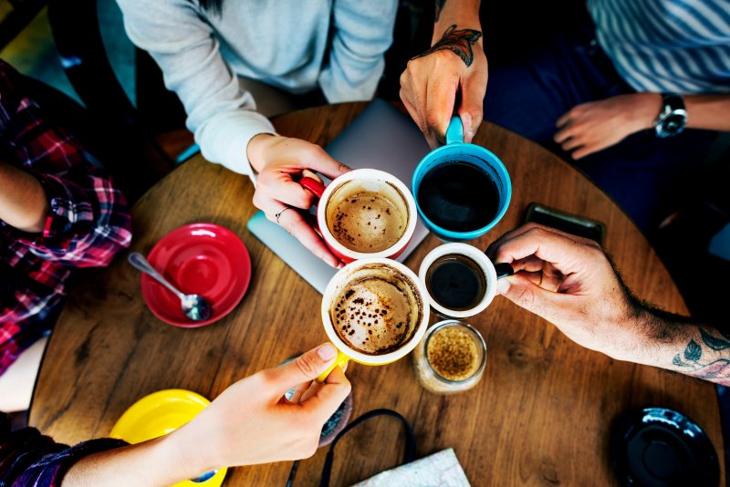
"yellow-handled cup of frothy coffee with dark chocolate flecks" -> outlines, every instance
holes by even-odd
[[[428,294],[411,269],[391,259],[361,259],[332,277],[322,295],[322,323],[338,349],[324,382],[349,360],[390,364],[421,341],[429,321]]]

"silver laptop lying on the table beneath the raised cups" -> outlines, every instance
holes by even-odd
[[[375,99],[325,148],[329,155],[353,169],[372,168],[390,172],[408,188],[413,171],[430,150],[421,130],[407,115],[381,99]],[[261,242],[281,257],[321,294],[337,272],[287,233],[257,212],[246,225]],[[416,224],[411,244],[398,257],[402,262],[421,243],[428,230]]]

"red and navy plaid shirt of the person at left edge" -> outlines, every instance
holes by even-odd
[[[110,264],[130,244],[124,197],[90,159],[0,60],[0,160],[35,176],[50,204],[42,233],[0,220],[0,374],[53,325],[73,268]]]

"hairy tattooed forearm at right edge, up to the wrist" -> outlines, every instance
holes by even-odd
[[[632,361],[730,386],[728,331],[647,306],[636,316],[636,330]]]

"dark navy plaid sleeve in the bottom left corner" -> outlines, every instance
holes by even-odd
[[[69,448],[41,435],[35,428],[10,432],[10,421],[0,413],[0,485],[57,487],[74,463],[98,451],[125,446],[123,440],[101,438]]]

